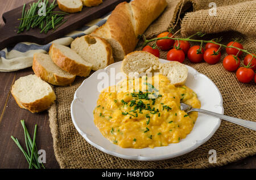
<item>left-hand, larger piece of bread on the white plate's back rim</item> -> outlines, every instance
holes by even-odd
[[[145,72],[148,73],[158,70],[159,65],[159,58],[155,57],[155,55],[148,52],[136,51],[125,56],[122,62],[122,71],[126,76],[134,77]]]

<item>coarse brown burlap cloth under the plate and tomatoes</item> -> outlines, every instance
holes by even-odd
[[[255,53],[256,1],[214,1],[217,5],[217,16],[209,16],[209,2],[212,0],[168,0],[167,9],[148,28],[146,35],[151,37],[173,27],[180,12],[182,23],[178,25],[181,27],[181,35],[178,36],[186,37],[201,31],[211,33],[204,37],[208,39],[223,36],[224,44],[233,37],[243,37],[244,48]],[[183,8],[180,11],[181,6]],[[161,58],[166,58],[166,53],[161,52]],[[223,59],[225,50],[222,50],[222,54]],[[224,70],[222,63],[191,64],[186,59],[185,64],[213,80],[221,91],[226,115],[256,121],[254,83],[239,83],[236,74]],[[107,155],[87,143],[72,123],[70,105],[82,80],[78,78],[72,87],[55,87],[57,101],[49,109],[53,148],[61,168],[209,168],[225,165],[256,153],[255,131],[222,121],[220,128],[207,143],[195,151],[170,160],[142,162]],[[210,149],[217,152],[216,164],[210,164],[208,161]]]

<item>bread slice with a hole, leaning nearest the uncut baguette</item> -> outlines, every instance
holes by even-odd
[[[112,48],[104,38],[82,36],[76,38],[71,49],[75,50],[85,61],[92,63],[92,70],[97,71],[114,63]]]

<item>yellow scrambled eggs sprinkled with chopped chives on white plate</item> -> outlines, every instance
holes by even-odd
[[[196,93],[185,85],[175,87],[163,75],[148,79],[125,80],[104,89],[98,98],[94,123],[105,138],[122,148],[179,143],[196,122],[196,112],[180,110],[180,102],[200,108]]]

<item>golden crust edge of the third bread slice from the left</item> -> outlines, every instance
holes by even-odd
[[[52,44],[49,49],[49,55],[57,66],[70,74],[82,77],[86,77],[90,74],[92,67],[79,64],[76,61],[69,59],[63,53],[61,53],[59,49],[55,48],[54,44]]]

